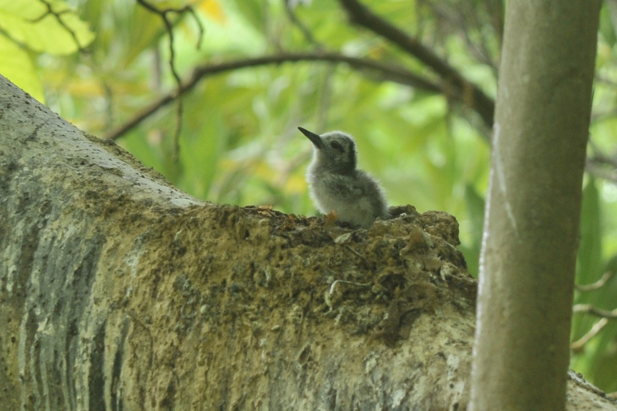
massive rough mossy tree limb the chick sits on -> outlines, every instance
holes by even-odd
[[[457,222],[393,211],[203,203],[0,76],[0,410],[465,409]]]

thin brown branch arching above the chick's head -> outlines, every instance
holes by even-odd
[[[393,81],[394,83],[404,84],[406,86],[415,87],[428,92],[439,93],[443,89],[439,84],[418,76],[411,71],[391,63],[379,63],[373,60],[360,59],[359,57],[350,57],[337,53],[297,53],[297,54],[276,54],[264,55],[252,59],[234,60],[231,62],[218,63],[213,65],[204,65],[197,67],[193,74],[186,82],[183,82],[180,87],[169,92],[151,105],[143,108],[141,112],[135,115],[125,124],[118,126],[115,129],[107,132],[103,139],[115,140],[123,136],[126,132],[138,126],[139,123],[146,120],[149,116],[157,112],[159,108],[172,102],[176,97],[189,91],[196,86],[199,81],[207,76],[225,73],[227,71],[238,70],[247,67],[258,67],[262,65],[280,64],[286,62],[302,62],[302,61],[320,61],[329,63],[346,63],[349,67],[358,71],[374,73],[381,80]]]

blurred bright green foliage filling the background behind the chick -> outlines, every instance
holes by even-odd
[[[0,0],[0,53],[6,56],[0,73],[38,99],[43,99],[42,84],[50,107],[80,128],[105,136],[174,91],[170,37],[160,15],[136,2],[68,3],[70,7],[60,0]],[[168,14],[175,65],[183,78],[199,65],[327,49],[404,65],[438,80],[420,60],[351,25],[337,1],[150,3],[159,9],[190,4],[205,30],[197,48],[199,25],[193,16]],[[22,7],[25,4],[28,7]],[[47,4],[64,24],[55,16],[41,17]],[[364,0],[363,4],[495,96],[503,0]],[[605,2],[598,35],[589,155],[590,164],[602,161],[595,163],[596,172],[587,174],[584,182],[578,283],[595,282],[605,271],[617,269],[615,4],[615,0]],[[75,52],[86,46],[87,51]],[[342,129],[356,137],[360,166],[381,180],[391,204],[410,203],[421,212],[444,210],[457,216],[461,249],[471,274],[478,274],[490,148],[488,128],[469,108],[442,94],[325,62],[223,71],[198,81],[183,102],[178,161],[173,160],[173,103],[122,134],[118,144],[196,197],[313,215],[304,180],[312,147],[297,126],[315,132]],[[575,302],[615,309],[617,276],[598,290],[577,292]],[[575,314],[573,341],[597,320]],[[572,366],[600,388],[617,391],[617,320],[573,352]]]

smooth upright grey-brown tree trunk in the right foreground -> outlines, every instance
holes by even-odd
[[[473,410],[565,409],[600,2],[508,1]]]

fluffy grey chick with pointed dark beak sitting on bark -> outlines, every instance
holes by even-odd
[[[383,188],[370,174],[357,168],[355,140],[342,131],[315,134],[298,129],[313,143],[307,182],[313,203],[323,214],[334,211],[337,219],[369,229],[377,218],[389,216]]]

